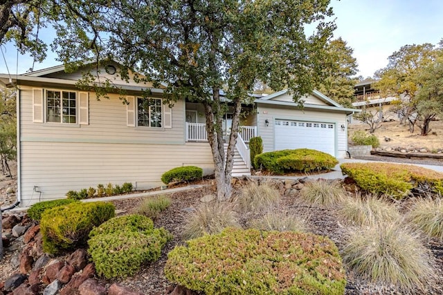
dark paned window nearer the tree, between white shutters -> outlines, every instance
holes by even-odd
[[[138,126],[161,127],[161,99],[137,98]]]

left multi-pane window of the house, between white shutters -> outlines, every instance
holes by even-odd
[[[46,91],[46,122],[77,123],[76,93]]]

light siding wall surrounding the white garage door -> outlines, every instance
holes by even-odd
[[[274,146],[274,120],[286,119],[286,120],[301,120],[312,122],[328,122],[336,124],[335,129],[337,132],[337,148],[336,157],[344,158],[347,150],[347,133],[341,130],[341,125],[346,125],[346,115],[343,113],[332,113],[330,111],[309,111],[308,109],[299,110],[297,108],[278,108],[272,106],[264,106],[259,104],[257,106],[257,122],[259,135],[263,140],[263,151],[273,151]],[[269,121],[269,126],[266,126],[265,120]]]

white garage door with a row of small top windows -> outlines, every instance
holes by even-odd
[[[316,149],[335,156],[335,124],[275,120],[275,150]]]

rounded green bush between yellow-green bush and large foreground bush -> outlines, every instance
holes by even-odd
[[[172,238],[165,229],[154,229],[150,218],[129,215],[112,218],[89,234],[89,254],[97,273],[105,278],[125,278],[159,259]]]

